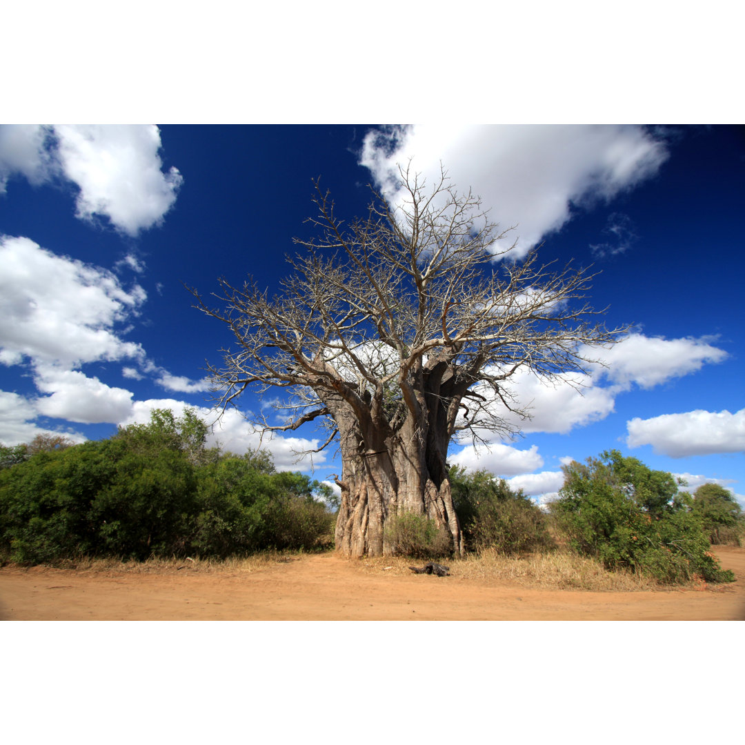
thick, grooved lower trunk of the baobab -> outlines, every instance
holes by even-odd
[[[433,519],[451,536],[454,553],[463,554],[445,457],[429,450],[428,444],[434,443],[406,427],[387,440],[364,443],[364,438],[355,437],[356,428],[350,429],[340,433],[343,473],[337,479],[337,551],[345,557],[390,556],[387,522],[410,512]]]

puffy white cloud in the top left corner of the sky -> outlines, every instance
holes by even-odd
[[[135,236],[162,221],[183,177],[162,172],[154,125],[4,126],[0,130],[0,193],[13,174],[39,184],[60,177],[78,188],[76,216],[108,218]]]

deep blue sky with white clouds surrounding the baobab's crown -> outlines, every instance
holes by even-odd
[[[691,487],[717,481],[744,501],[745,130],[735,126],[370,125],[0,128],[0,442],[41,431],[76,441],[146,421],[153,406],[203,408],[205,360],[226,329],[191,307],[218,278],[270,290],[292,238],[308,235],[311,180],[337,214],[364,210],[390,169],[439,162],[492,218],[516,224],[518,256],[595,264],[592,304],[630,335],[607,368],[569,385],[520,378],[524,437],[454,446],[536,499],[560,466],[618,448]],[[393,198],[393,197],[392,197]],[[246,411],[261,402],[247,396]],[[282,469],[311,425],[264,445]],[[235,413],[223,448],[257,434]],[[338,472],[329,448],[315,478]]]

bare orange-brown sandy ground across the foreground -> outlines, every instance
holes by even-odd
[[[386,574],[334,554],[251,572],[105,574],[0,568],[4,621],[744,621],[745,548],[716,549],[737,581],[703,590],[582,592]]]

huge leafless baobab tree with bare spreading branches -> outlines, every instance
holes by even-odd
[[[405,512],[434,519],[462,554],[448,445],[515,434],[506,413],[527,411],[505,387],[513,375],[585,370],[589,350],[624,331],[597,323],[586,270],[551,271],[536,251],[510,261],[515,244],[501,248],[508,231],[478,197],[444,171],[429,188],[400,174],[405,198],[393,206],[373,191],[367,216],[348,226],[316,183],[318,235],[296,239],[273,297],[253,279],[221,279],[220,308],[192,290],[235,337],[221,366],[209,365],[223,410],[246,390],[285,389],[287,419],[254,423],[289,431],[314,421],[325,437],[316,451],[337,443],[336,547],[348,557],[392,553],[385,527]]]

